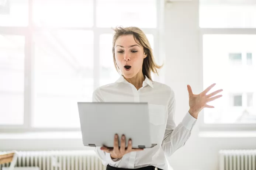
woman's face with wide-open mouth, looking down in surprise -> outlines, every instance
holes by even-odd
[[[143,47],[136,43],[133,35],[123,35],[116,40],[115,60],[126,78],[132,78],[139,72],[142,73],[145,57]]]

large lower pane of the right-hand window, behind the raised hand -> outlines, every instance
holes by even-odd
[[[256,116],[255,103],[248,109],[250,98],[248,100],[246,97],[246,93],[256,92],[256,63],[252,61],[252,65],[248,66],[246,62],[248,51],[252,55],[256,53],[255,44],[256,35],[203,36],[204,88],[212,83],[217,84],[209,93],[223,88],[223,97],[210,102],[215,108],[204,109],[205,123],[241,123],[242,120],[243,123],[251,123],[241,117],[247,112],[251,117]],[[231,58],[242,62],[240,65],[232,65]],[[256,123],[256,119],[251,120]]]

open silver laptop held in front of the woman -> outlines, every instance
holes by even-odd
[[[133,102],[78,102],[83,145],[112,148],[114,135],[129,138],[132,148],[151,148],[149,110],[147,103]]]

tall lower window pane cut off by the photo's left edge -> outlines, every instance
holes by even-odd
[[[24,36],[0,35],[0,124],[24,123]]]

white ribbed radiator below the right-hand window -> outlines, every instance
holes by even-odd
[[[256,170],[256,150],[219,151],[219,170]]]

